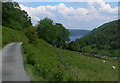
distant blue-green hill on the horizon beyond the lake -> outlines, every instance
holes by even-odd
[[[86,35],[90,30],[69,29],[70,36]]]

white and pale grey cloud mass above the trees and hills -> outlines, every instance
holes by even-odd
[[[64,3],[35,8],[20,4],[20,7],[28,12],[33,24],[40,19],[50,17],[55,22],[62,23],[66,28],[93,29],[105,22],[117,19],[118,7],[112,8],[103,0],[88,2],[88,5],[89,8],[73,8]]]

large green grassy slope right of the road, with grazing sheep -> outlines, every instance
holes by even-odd
[[[22,46],[25,69],[33,81],[117,81],[118,61],[55,48],[43,40]],[[112,66],[116,69],[112,69]]]

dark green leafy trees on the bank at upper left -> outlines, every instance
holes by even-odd
[[[2,25],[22,30],[32,25],[31,18],[27,12],[21,10],[20,6],[16,2],[2,3]]]

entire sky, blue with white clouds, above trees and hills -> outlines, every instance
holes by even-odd
[[[90,1],[90,0],[89,0]],[[118,2],[19,2],[33,25],[45,17],[62,23],[67,29],[92,30],[118,19]]]

